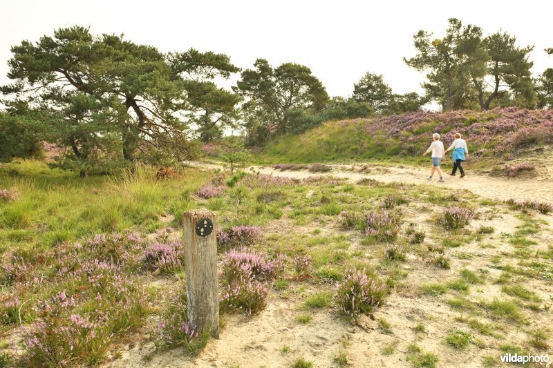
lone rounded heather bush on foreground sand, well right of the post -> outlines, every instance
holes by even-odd
[[[386,282],[380,280],[374,271],[366,273],[364,269],[354,269],[348,271],[338,284],[336,299],[341,311],[356,318],[382,304],[388,292]]]

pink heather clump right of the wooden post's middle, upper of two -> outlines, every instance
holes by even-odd
[[[250,273],[257,280],[272,280],[284,271],[284,267],[285,256],[282,254],[271,259],[251,249],[231,249],[221,263],[221,279],[232,283],[239,275]]]

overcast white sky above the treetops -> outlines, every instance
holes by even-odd
[[[421,91],[424,76],[404,64],[420,29],[441,37],[447,19],[503,28],[520,46],[534,44],[533,72],[553,67],[552,1],[165,1],[4,0],[0,21],[0,84],[10,46],[55,28],[91,26],[93,34],[124,33],[162,51],[224,52],[241,68],[257,57],[309,66],[331,96],[348,97],[366,72],[384,75],[394,92]]]

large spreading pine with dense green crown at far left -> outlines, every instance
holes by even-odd
[[[129,164],[160,150],[188,157],[191,124],[217,124],[238,101],[210,80],[238,71],[213,52],[164,55],[122,35],[93,36],[75,26],[23,41],[12,55],[14,83],[3,92],[15,98],[6,104],[39,113],[45,139],[68,148],[60,165],[82,173],[92,161],[97,168]],[[207,117],[197,119],[198,110]]]

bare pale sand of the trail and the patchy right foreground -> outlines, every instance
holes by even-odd
[[[202,166],[211,168],[218,167]],[[533,178],[507,179],[505,177],[491,177],[469,172],[467,177],[447,177],[445,183],[427,182],[427,171],[409,167],[375,166],[370,173],[359,173],[362,166],[356,165],[332,165],[329,173],[309,173],[308,171],[277,171],[270,167],[256,166],[254,169],[264,174],[285,177],[308,177],[315,175],[330,175],[345,177],[350,182],[357,182],[363,178],[371,178],[382,182],[405,182],[413,184],[429,184],[444,186],[447,188],[467,189],[478,195],[494,200],[507,200],[515,198],[519,200],[552,200],[553,186],[548,175]],[[460,269],[467,267],[472,271],[479,269],[489,270],[487,283],[471,287],[471,291],[465,297],[478,301],[489,301],[494,296],[501,296],[500,286],[491,280],[500,275],[499,270],[487,267],[490,258],[502,252],[512,252],[513,248],[505,240],[502,233],[513,231],[521,220],[506,211],[506,207],[499,213],[482,209],[480,219],[470,225],[475,230],[480,224],[494,226],[496,232],[489,235],[486,240],[491,246],[482,248],[478,242],[465,244],[461,248],[447,249],[451,256],[451,269],[439,269],[427,264],[428,260],[409,255],[409,262],[402,264],[404,271],[408,272],[404,280],[404,287],[391,294],[386,304],[375,312],[375,318],[384,318],[391,324],[389,331],[379,327],[379,323],[371,318],[362,318],[359,323],[339,316],[334,308],[312,312],[312,321],[306,325],[295,320],[296,316],[306,311],[302,308],[302,302],[306,296],[315,289],[320,290],[321,285],[303,282],[303,289],[299,283],[290,282],[290,297],[283,297],[281,293],[272,292],[268,308],[257,316],[247,318],[245,316],[225,316],[225,326],[221,329],[218,340],[210,340],[205,350],[195,358],[186,356],[182,349],[173,349],[165,352],[154,351],[153,342],[142,339],[133,346],[124,347],[120,358],[104,364],[104,367],[290,367],[299,357],[306,358],[314,363],[314,367],[338,367],[334,357],[343,351],[350,363],[350,367],[411,367],[411,362],[406,360],[406,351],[409,344],[416,342],[424,351],[437,354],[440,358],[438,367],[482,367],[483,356],[498,358],[500,351],[497,349],[498,340],[489,336],[480,336],[483,347],[470,346],[465,350],[455,350],[444,343],[448,331],[453,328],[466,330],[466,322],[458,320],[462,313],[453,311],[447,305],[449,297],[433,298],[420,296],[420,284],[423,282],[453,280],[458,277]],[[404,209],[405,216],[417,219],[421,229],[430,231],[431,216],[424,205],[411,202]],[[545,221],[550,216],[542,216]],[[283,217],[275,220],[268,231],[279,232],[292,229],[296,232],[310,233],[313,229],[309,226],[294,226],[290,220]],[[545,244],[552,241],[552,233],[549,226],[543,226],[544,230],[538,235],[539,245],[536,249],[547,249]],[[355,231],[343,231],[337,224],[330,224],[323,229],[324,235],[331,233],[346,235],[350,243],[349,251],[366,249],[360,244],[362,235]],[[428,238],[426,244],[440,244],[440,240]],[[364,247],[364,248],[363,248]],[[375,251],[375,250],[371,250]],[[377,254],[377,251],[375,251]],[[460,257],[460,253],[471,255],[471,259]],[[509,260],[507,260],[509,262]],[[510,262],[516,264],[516,258]],[[550,281],[532,280],[532,289],[543,300],[550,300],[553,289]],[[326,289],[332,289],[332,284],[322,285]],[[526,311],[532,319],[533,326],[547,326],[551,322],[549,311]],[[482,322],[492,320],[480,318]],[[413,329],[418,323],[426,325],[426,331],[420,333]],[[522,341],[525,333],[521,329],[513,327],[501,332],[504,342]],[[142,336],[143,337],[143,336]],[[140,340],[140,339],[139,339]],[[501,341],[501,340],[499,340]],[[384,348],[394,345],[391,354],[384,354]],[[288,347],[288,351],[285,347]],[[144,356],[151,356],[144,360]]]

